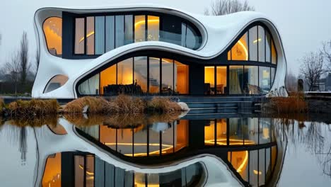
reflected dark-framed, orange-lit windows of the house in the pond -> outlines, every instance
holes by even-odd
[[[135,128],[95,125],[77,131],[134,164],[153,166],[212,154],[223,160],[245,186],[269,183],[279,151],[270,118],[177,120]],[[60,169],[52,166],[52,162],[59,159]],[[201,162],[150,174],[120,169],[94,154],[62,152],[47,159],[42,184],[47,186],[52,181],[52,186],[57,186],[55,183],[62,186],[200,186],[208,174],[208,167]]]

